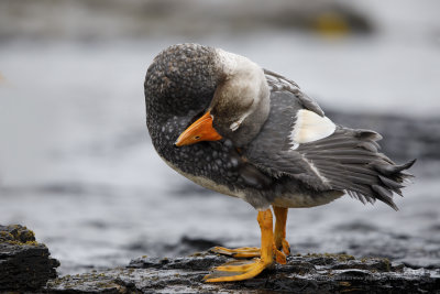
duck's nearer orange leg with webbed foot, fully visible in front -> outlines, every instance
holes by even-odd
[[[252,279],[274,263],[275,243],[271,209],[258,211],[257,221],[262,232],[261,258],[232,261],[213,269],[205,276],[206,282],[230,282]]]

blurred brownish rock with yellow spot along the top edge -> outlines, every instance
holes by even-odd
[[[305,30],[329,36],[373,31],[361,9],[323,0],[10,0],[0,3],[0,26],[1,40],[76,41],[240,35],[261,30]]]

